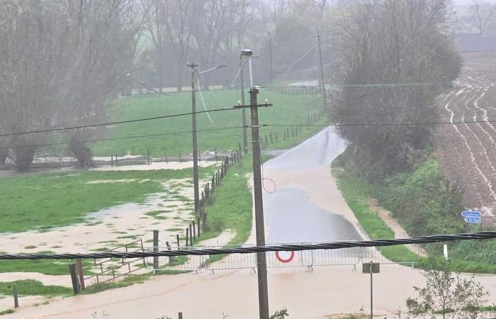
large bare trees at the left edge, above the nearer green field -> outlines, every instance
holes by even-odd
[[[107,100],[115,96],[134,59],[133,3],[1,1],[1,131],[20,133],[104,118]],[[87,132],[71,131],[70,144]],[[25,171],[38,145],[53,139],[49,133],[11,135],[6,144],[17,169]],[[81,152],[71,148],[77,157],[87,157],[84,147]]]

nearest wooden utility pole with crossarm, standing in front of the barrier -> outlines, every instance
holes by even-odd
[[[249,90],[249,105],[235,106],[235,108],[250,108],[252,118],[252,155],[253,155],[253,193],[255,200],[255,232],[257,246],[265,246],[264,230],[264,202],[261,193],[261,158],[259,137],[259,107],[272,106],[272,104],[258,104],[257,94],[259,89],[252,87]],[[257,276],[259,284],[259,318],[269,319],[269,292],[267,288],[267,262],[265,252],[257,252]]]

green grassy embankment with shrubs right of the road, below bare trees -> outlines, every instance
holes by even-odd
[[[345,152],[338,157],[333,167],[346,167],[346,156]],[[334,169],[333,174],[362,228],[373,239],[392,238],[393,231],[368,206],[370,198],[378,198],[411,236],[485,229],[463,222],[460,191],[446,181],[436,159],[428,159],[412,172],[395,174],[373,183],[359,177],[349,167],[345,171]],[[496,273],[495,240],[467,240],[447,245],[452,271]],[[429,244],[425,249],[433,257],[442,257],[442,244]],[[402,246],[385,247],[381,251],[393,261],[408,261],[415,257]],[[426,259],[420,259],[418,267],[424,267],[426,263]]]

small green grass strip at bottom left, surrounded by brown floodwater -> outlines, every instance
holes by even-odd
[[[0,294],[12,296],[13,284],[16,284],[18,296],[71,296],[72,289],[64,286],[45,286],[33,279],[0,282]]]

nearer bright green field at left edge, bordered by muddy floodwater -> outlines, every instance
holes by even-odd
[[[210,176],[214,168],[201,168]],[[6,177],[0,183],[0,233],[48,230],[81,223],[87,213],[145,200],[162,191],[160,181],[182,179],[192,169],[150,171],[73,171]],[[125,182],[118,182],[126,180]],[[116,181],[98,182],[92,181]]]

